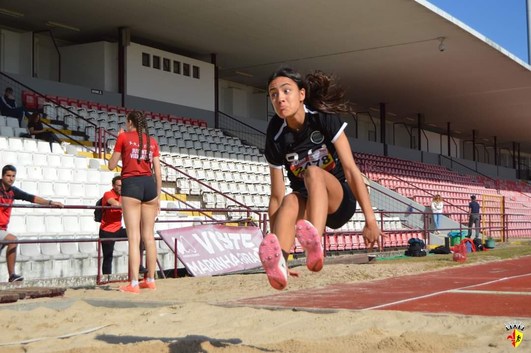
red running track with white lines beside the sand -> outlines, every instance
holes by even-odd
[[[486,302],[489,303],[487,307]],[[235,300],[229,304],[522,318],[531,317],[530,302],[531,256],[526,256],[376,281],[283,291],[271,296]]]

